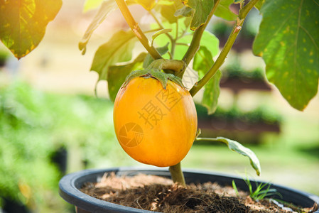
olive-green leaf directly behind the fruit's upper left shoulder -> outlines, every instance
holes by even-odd
[[[141,70],[146,53],[141,53],[133,62],[127,65],[111,66],[107,72],[107,86],[109,88],[109,97],[114,102],[117,92],[125,82],[126,76],[134,70]]]

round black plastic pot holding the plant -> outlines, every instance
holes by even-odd
[[[163,169],[141,169],[141,168],[112,168],[107,170],[82,170],[77,173],[65,175],[59,182],[60,196],[70,204],[75,205],[77,213],[87,212],[151,212],[141,209],[135,209],[131,207],[124,207],[119,204],[113,204],[105,202],[94,197],[90,197],[79,189],[85,182],[97,182],[104,175],[104,173],[115,173],[122,176],[134,176],[138,173],[144,173],[147,175],[158,175],[162,177],[170,178],[169,171]],[[232,180],[235,181],[237,187],[241,190],[248,191],[248,187],[242,178],[233,175],[224,175],[220,173],[202,172],[197,170],[185,170],[184,171],[186,182],[218,182],[220,185],[232,185]],[[254,187],[255,181],[252,180],[252,186]],[[260,182],[256,182],[260,183]],[[283,201],[291,202],[301,207],[313,207],[315,202],[319,203],[319,197],[310,195],[306,192],[293,190],[288,187],[280,185],[271,185],[271,188],[276,189],[283,198]],[[276,197],[274,197],[276,198]],[[277,197],[279,198],[279,197]],[[319,210],[315,213],[319,213]]]

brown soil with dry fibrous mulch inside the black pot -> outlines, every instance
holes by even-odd
[[[315,212],[315,207],[281,208],[271,200],[255,202],[247,192],[239,191],[237,196],[232,187],[216,183],[182,187],[166,178],[142,174],[104,175],[101,182],[87,183],[82,192],[107,202],[156,212]]]

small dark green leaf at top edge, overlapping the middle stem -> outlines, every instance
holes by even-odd
[[[207,20],[210,11],[214,6],[213,0],[181,0],[185,6],[194,9],[193,18],[190,22],[190,29],[195,31]]]

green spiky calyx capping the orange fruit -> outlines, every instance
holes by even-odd
[[[158,70],[158,69],[146,69],[146,70],[133,71],[126,77],[126,80],[124,84],[122,85],[122,87],[126,87],[126,85],[129,84],[129,82],[136,77],[153,77],[159,82],[161,82],[164,89],[166,89],[168,80],[171,80],[172,82],[175,82],[176,84],[180,85],[180,87],[185,88],[182,80],[179,77],[171,73],[161,72],[161,70]]]

